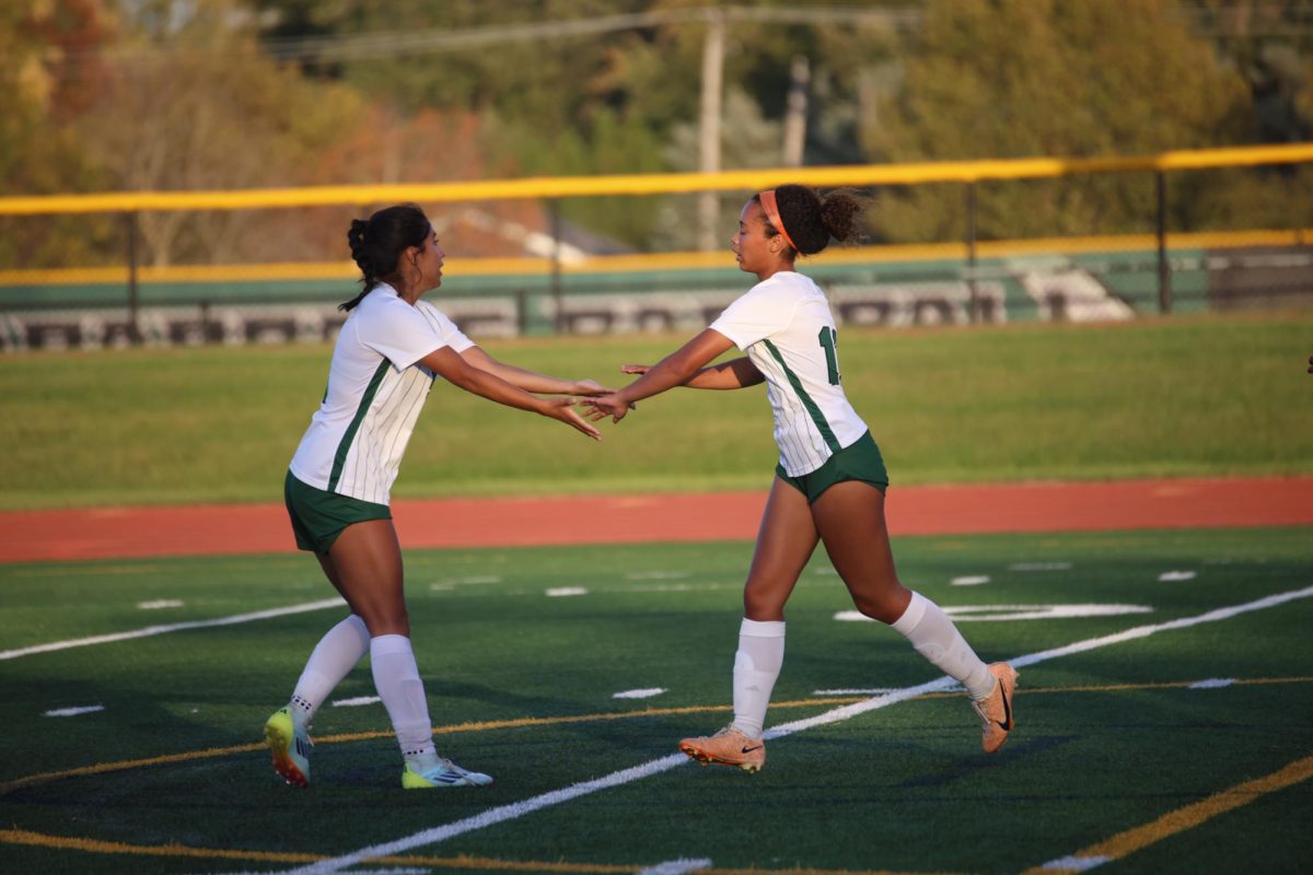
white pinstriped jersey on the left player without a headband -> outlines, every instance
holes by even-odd
[[[435,349],[474,345],[437,307],[414,306],[378,283],[337,336],[324,400],[291,458],[302,483],[389,504],[402,455],[435,374],[418,365]]]

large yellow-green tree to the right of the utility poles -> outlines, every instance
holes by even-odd
[[[1159,0],[932,0],[902,76],[863,126],[882,161],[1138,155],[1245,142],[1247,88]],[[878,234],[960,239],[960,186],[889,193]],[[1136,174],[990,184],[978,234],[1150,231]]]

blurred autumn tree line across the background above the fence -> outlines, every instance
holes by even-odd
[[[1305,0],[17,0],[0,8],[4,194],[695,171],[708,17],[720,165],[1150,153],[1313,132]],[[731,14],[733,13],[733,14]],[[786,14],[785,14],[786,13]],[[562,26],[565,25],[570,26]],[[572,22],[572,24],[571,24]],[[1201,26],[1201,22],[1207,26]],[[798,94],[806,72],[805,109]],[[872,241],[962,235],[960,186],[873,192]],[[1174,231],[1308,227],[1308,171],[1174,174]],[[739,195],[726,198],[726,228]],[[1152,230],[1152,180],[978,192],[982,239]],[[566,201],[607,245],[692,248],[692,198]],[[147,264],[332,260],[352,209],[138,218]],[[538,203],[440,216],[452,249]],[[481,231],[482,230],[482,231]],[[727,236],[726,230],[725,236]],[[0,265],[118,264],[114,216],[7,219]]]

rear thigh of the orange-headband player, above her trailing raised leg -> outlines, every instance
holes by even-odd
[[[898,619],[911,594],[898,582],[884,493],[869,483],[844,480],[815,500],[811,517],[857,609],[886,623]]]

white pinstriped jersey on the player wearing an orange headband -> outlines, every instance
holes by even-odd
[[[830,303],[807,277],[781,272],[725,308],[712,328],[765,376],[780,464],[810,474],[867,433],[839,384]]]

